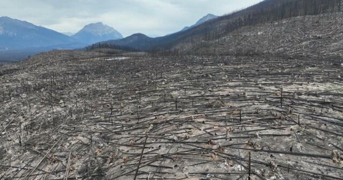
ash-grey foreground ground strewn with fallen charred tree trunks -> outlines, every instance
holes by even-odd
[[[0,179],[343,179],[341,59],[100,56],[0,67]]]

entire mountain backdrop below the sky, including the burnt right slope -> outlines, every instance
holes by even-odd
[[[38,46],[39,50],[43,50],[43,47],[44,50],[66,49],[81,44],[90,45],[106,38],[111,40],[95,43],[85,49],[108,47],[166,55],[305,56],[317,53],[317,56],[322,56],[329,53],[341,56],[338,44],[343,40],[340,36],[335,36],[341,34],[336,32],[341,28],[333,28],[331,25],[338,22],[339,18],[336,18],[336,15],[342,12],[341,7],[340,0],[264,0],[225,16],[215,17],[208,14],[196,24],[179,32],[155,38],[141,33],[121,38],[122,36],[120,37],[113,28],[102,23],[87,25],[72,35],[73,37],[69,37],[25,21],[1,17],[0,60],[4,57],[2,52],[16,48]],[[322,14],[326,14],[326,17],[322,18]],[[88,37],[90,38],[83,39]],[[296,37],[293,38],[296,40],[290,40],[289,37]],[[314,47],[320,47],[320,50],[315,50]]]

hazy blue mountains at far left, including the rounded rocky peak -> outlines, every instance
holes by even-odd
[[[122,35],[103,23],[84,26],[78,33],[59,33],[32,23],[0,17],[0,61],[20,60],[51,49],[79,49],[87,45],[120,39]]]

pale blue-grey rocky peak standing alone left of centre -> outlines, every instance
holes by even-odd
[[[116,29],[102,22],[85,25],[78,33],[72,35],[72,37],[86,44],[123,38]]]

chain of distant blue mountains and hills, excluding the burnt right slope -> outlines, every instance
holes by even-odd
[[[213,14],[202,17],[196,24],[187,26],[180,32],[196,27],[206,21],[217,18]],[[38,52],[51,49],[78,49],[98,42],[112,43],[138,50],[147,50],[164,40],[173,38],[175,34],[151,38],[137,33],[126,38],[113,27],[101,22],[85,25],[77,33],[59,33],[32,23],[0,17],[0,61],[19,60]],[[156,43],[157,42],[157,43]],[[142,48],[143,47],[143,48]],[[8,58],[11,57],[11,58]]]

